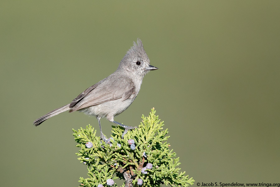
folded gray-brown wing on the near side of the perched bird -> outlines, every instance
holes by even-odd
[[[119,82],[118,82],[119,83]],[[72,101],[73,107],[70,112],[80,110],[82,108],[98,105],[107,101],[122,98],[122,101],[129,98],[133,93],[134,87],[131,81],[124,81],[122,84],[109,84],[107,87],[102,84],[93,85],[94,88],[88,88],[81,93],[76,100]],[[91,89],[91,90],[89,90]],[[71,106],[71,105],[70,105]]]

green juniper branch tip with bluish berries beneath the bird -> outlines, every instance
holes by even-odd
[[[78,160],[87,165],[90,177],[80,177],[80,186],[117,186],[112,184],[112,180],[118,178],[125,180],[122,186],[193,185],[193,178],[184,175],[185,172],[179,173],[180,168],[176,168],[180,165],[179,157],[174,158],[176,153],[169,150],[170,145],[166,142],[168,131],[162,130],[163,121],[160,122],[155,112],[153,108],[148,117],[142,115],[139,127],[124,135],[124,139],[121,138],[124,128],[112,126],[110,144],[100,141],[91,125],[78,131],[73,129],[77,147],[81,147],[76,153],[80,156]],[[108,179],[112,180],[107,182]],[[138,179],[143,180],[142,185]]]

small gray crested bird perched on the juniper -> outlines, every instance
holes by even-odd
[[[142,41],[138,39],[137,44],[133,42],[133,46],[124,55],[118,69],[113,74],[83,91],[70,104],[45,114],[36,119],[33,124],[38,126],[50,117],[65,111],[70,113],[79,111],[96,116],[100,128],[100,138],[103,141],[108,142],[110,140],[107,140],[102,133],[100,124],[100,118],[102,117],[106,117],[110,122],[124,127],[123,137],[129,129],[136,127],[116,122],[114,116],[124,112],[134,101],[140,90],[143,77],[148,71],[157,69],[150,65]]]

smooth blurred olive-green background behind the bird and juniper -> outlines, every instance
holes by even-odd
[[[279,183],[279,1],[0,2],[1,186],[78,186],[87,177],[62,113],[113,73],[139,37],[159,70],[115,120],[155,107],[180,168],[202,183]],[[105,135],[112,123],[101,120]]]

